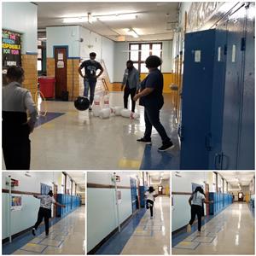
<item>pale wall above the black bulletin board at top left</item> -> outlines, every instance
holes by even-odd
[[[22,33],[21,54],[38,52],[37,12],[33,3],[2,3],[2,28]]]

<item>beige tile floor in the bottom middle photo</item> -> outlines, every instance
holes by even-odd
[[[125,244],[121,254],[162,255],[170,253],[170,198],[159,196],[154,203],[154,218],[149,210]]]

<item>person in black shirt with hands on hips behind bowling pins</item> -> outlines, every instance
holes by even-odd
[[[90,53],[90,60],[82,62],[82,64],[79,67],[79,75],[84,78],[84,96],[88,97],[88,92],[90,88],[90,107],[89,110],[91,110],[91,105],[94,99],[94,92],[96,88],[96,81],[97,78],[103,73],[104,69],[96,59],[96,53],[91,52]],[[82,69],[84,68],[84,75],[82,73]],[[100,69],[101,72],[96,75],[96,71]]]

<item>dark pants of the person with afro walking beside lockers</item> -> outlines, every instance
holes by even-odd
[[[160,109],[159,108],[144,108],[144,119],[146,130],[144,133],[144,138],[147,140],[151,139],[152,126],[159,133],[163,144],[169,143],[171,139],[167,136],[166,130],[160,123]]]

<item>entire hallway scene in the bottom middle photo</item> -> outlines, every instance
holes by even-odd
[[[169,172],[88,172],[87,253],[170,254],[169,181]]]

